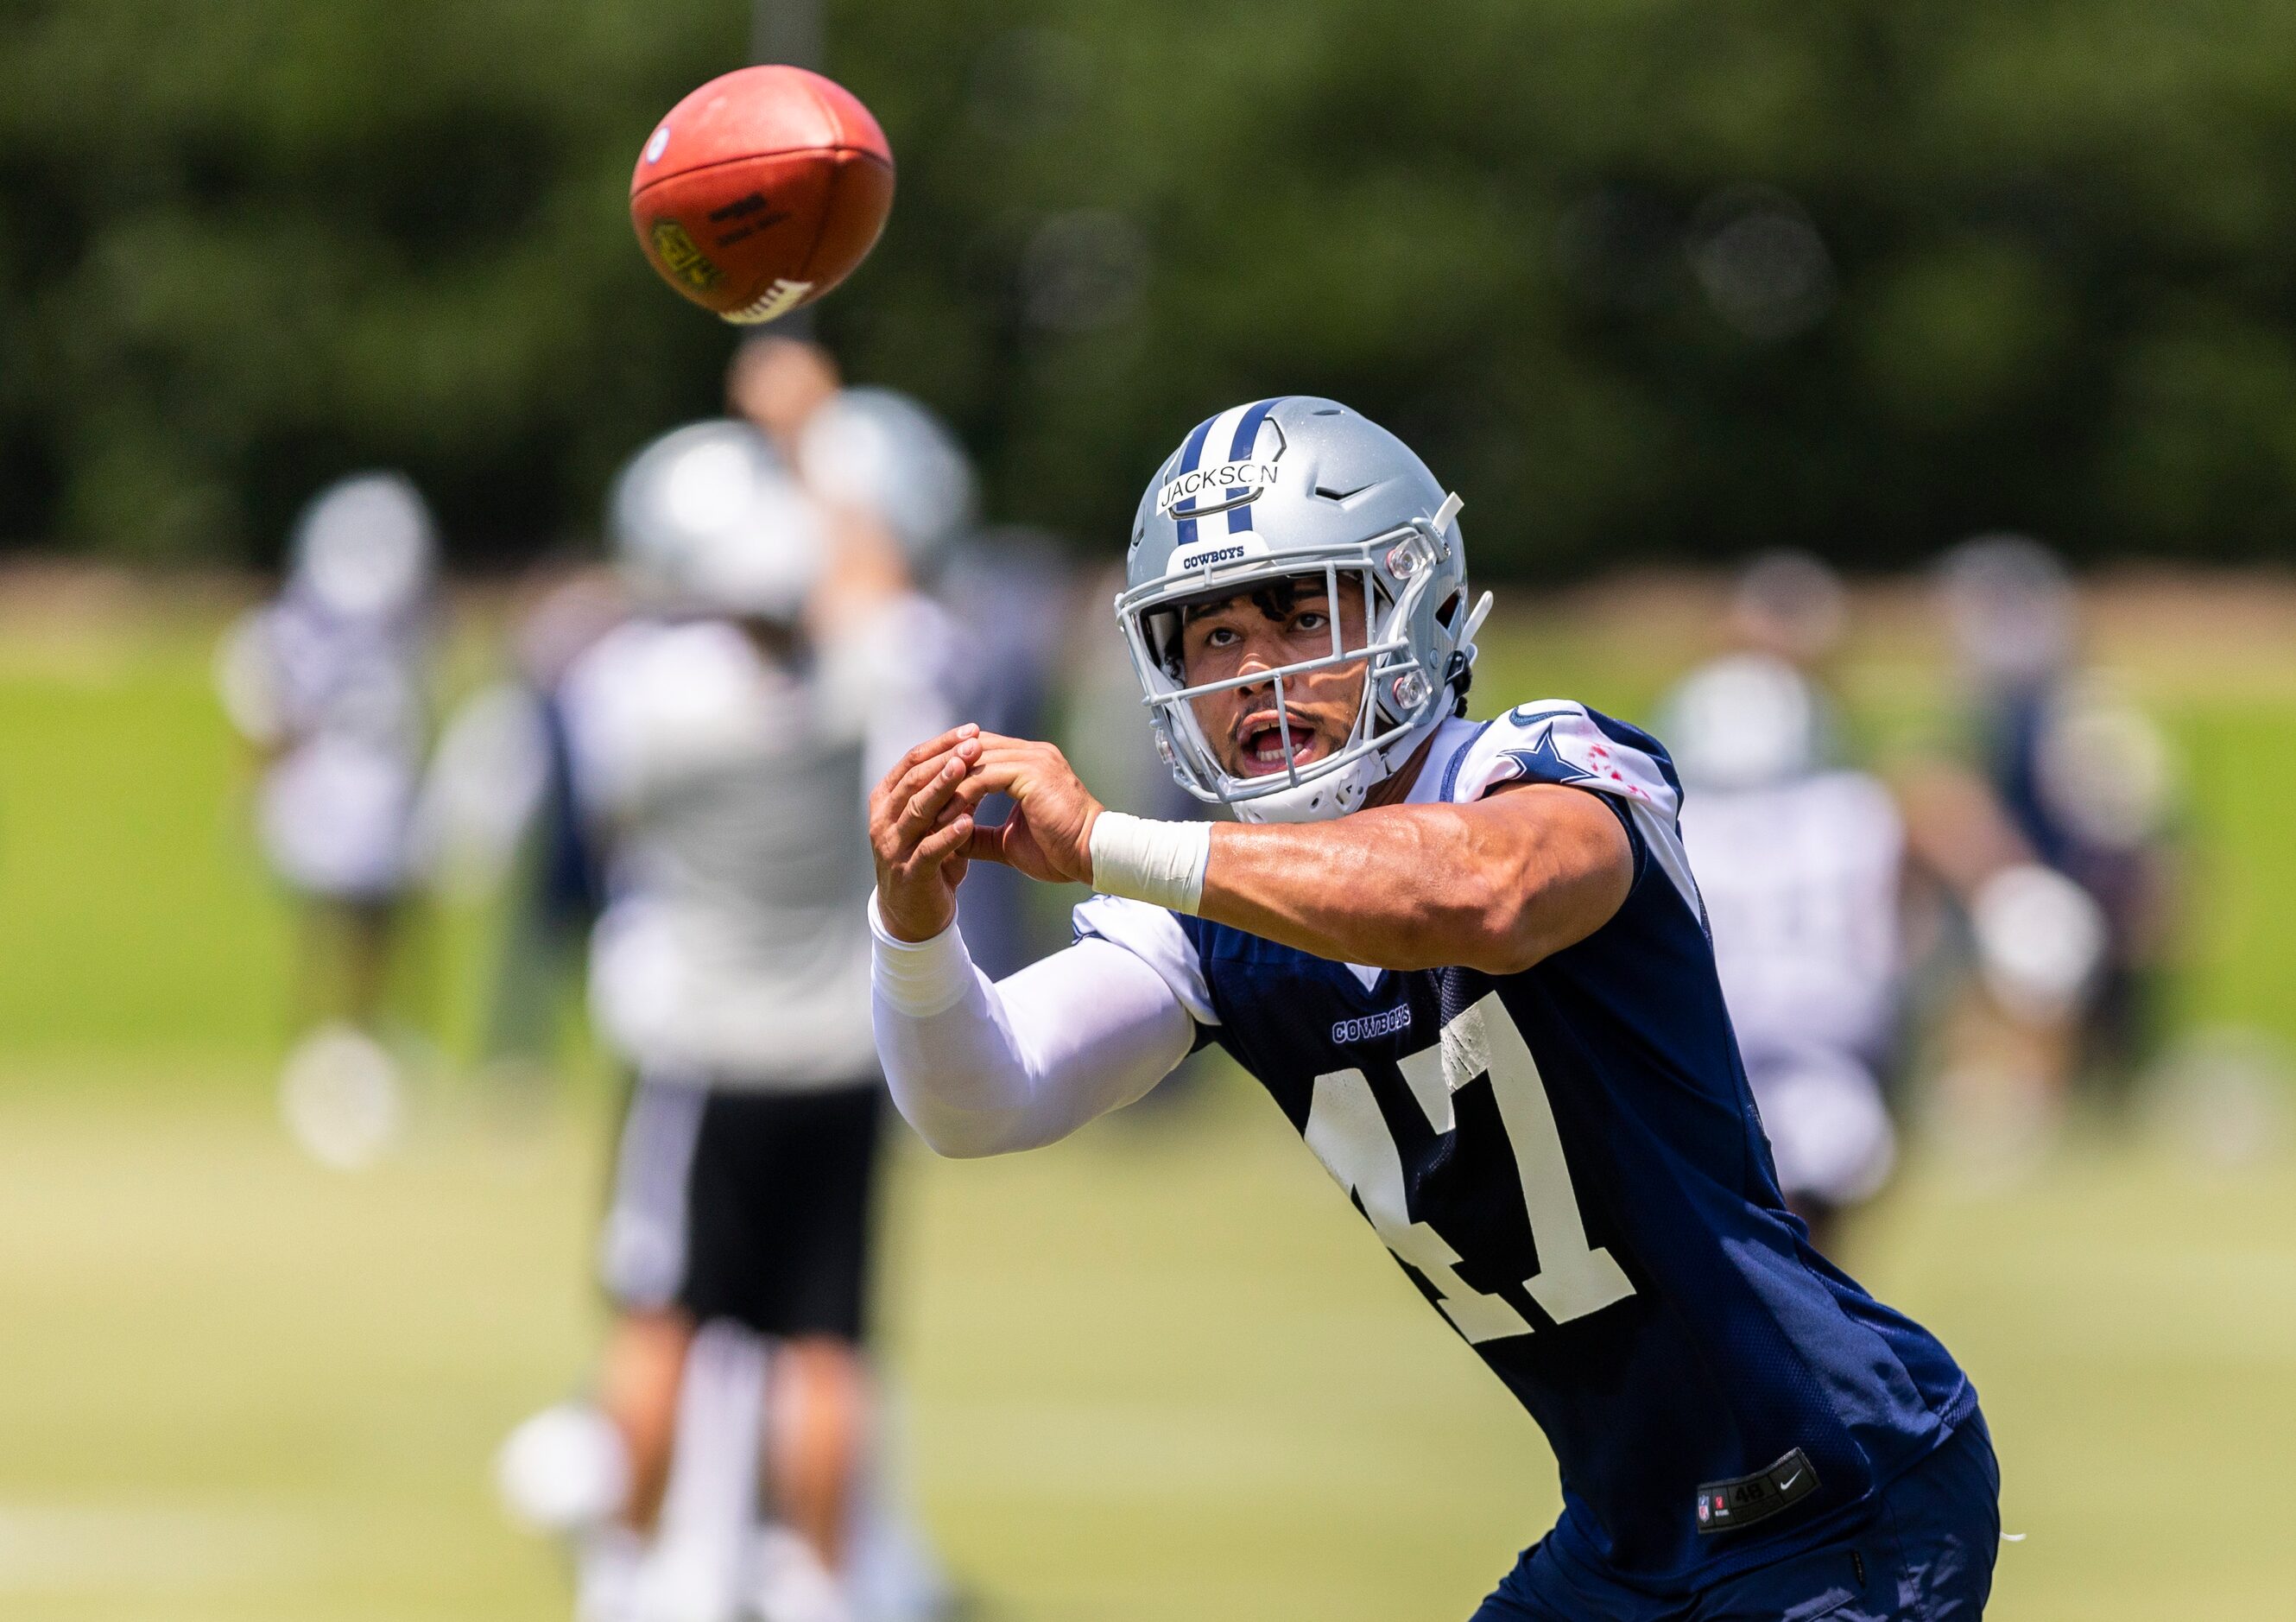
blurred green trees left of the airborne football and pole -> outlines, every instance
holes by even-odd
[[[719,0],[0,0],[0,531],[266,556],[409,466],[466,554],[583,526],[723,338],[629,239]]]

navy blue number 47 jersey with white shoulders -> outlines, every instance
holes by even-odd
[[[1373,972],[1109,898],[1077,921],[1173,983],[1538,1420],[1557,1548],[1694,1590],[1839,1530],[1975,1392],[1786,1213],[1658,742],[1561,701],[1449,721],[1412,800],[1508,781],[1603,793],[1635,850],[1616,917],[1522,974]],[[1791,1509],[1715,1530],[1699,1486],[1795,1450],[1818,1491],[1782,1470]]]

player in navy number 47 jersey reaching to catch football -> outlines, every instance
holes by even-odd
[[[895,1103],[1001,1153],[1235,1055],[1557,1454],[1483,1622],[1975,1617],[1977,1395],[1779,1197],[1665,749],[1559,698],[1460,719],[1458,505],[1329,400],[1187,437],[1116,609],[1176,777],[1240,820],[1107,811],[1040,742],[914,749],[870,804]],[[1077,944],[987,981],[976,859],[1097,889]]]

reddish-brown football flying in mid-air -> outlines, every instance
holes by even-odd
[[[712,78],[654,126],[629,177],[629,223],[661,280],[744,324],[845,280],[891,209],[877,119],[801,67]]]

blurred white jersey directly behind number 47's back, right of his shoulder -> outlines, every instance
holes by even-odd
[[[1906,829],[1880,781],[1816,772],[1683,802],[1738,1045],[1874,1061],[1899,999]]]

